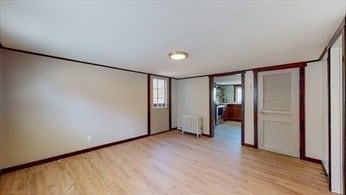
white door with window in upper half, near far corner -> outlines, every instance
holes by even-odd
[[[150,134],[169,130],[168,79],[151,76]]]

